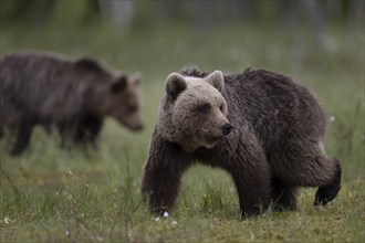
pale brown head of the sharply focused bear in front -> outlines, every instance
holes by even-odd
[[[212,148],[233,128],[227,119],[223,88],[220,71],[204,78],[168,75],[157,118],[163,138],[180,145],[187,152],[199,147]]]

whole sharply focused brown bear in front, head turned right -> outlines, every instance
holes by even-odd
[[[194,163],[228,171],[243,216],[272,202],[296,210],[300,187],[319,187],[314,204],[334,199],[341,166],[324,150],[326,115],[312,92],[288,76],[197,68],[166,81],[144,168],[142,193],[152,212],[171,210]]]

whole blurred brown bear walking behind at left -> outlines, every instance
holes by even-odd
[[[10,150],[22,152],[35,125],[55,125],[64,146],[96,145],[103,119],[114,117],[132,130],[143,127],[139,77],[90,59],[19,51],[0,61],[0,131],[18,131]],[[0,133],[0,134],[1,134]]]

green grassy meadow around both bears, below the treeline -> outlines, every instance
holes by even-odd
[[[58,138],[39,128],[31,149],[17,158],[0,140],[1,242],[364,242],[364,33],[356,33],[330,29],[323,45],[315,45],[282,28],[250,25],[210,33],[184,27],[131,33],[106,27],[2,29],[1,54],[88,53],[129,73],[140,71],[146,129],[133,134],[107,120],[100,151],[83,152],[60,150]],[[309,85],[334,120],[326,149],[343,166],[338,197],[313,208],[315,189],[304,189],[300,212],[268,211],[242,221],[230,177],[196,167],[184,178],[174,214],[150,215],[139,196],[143,163],[164,80],[188,64],[225,73],[264,67]]]

